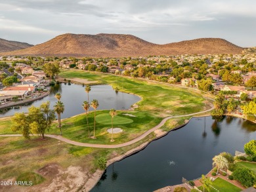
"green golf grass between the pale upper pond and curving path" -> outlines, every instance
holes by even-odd
[[[109,111],[96,111],[96,140],[88,138],[85,114],[64,119],[62,121],[63,136],[77,142],[121,144],[137,138],[146,132],[146,130],[158,125],[164,117],[185,115],[209,108],[209,105],[205,106],[204,99],[198,93],[188,92],[184,88],[160,85],[159,83],[152,83],[141,79],[131,79],[106,73],[90,73],[77,69],[62,70],[60,77],[98,81],[98,83],[109,84],[113,87],[117,86],[122,92],[137,94],[142,98],[137,103],[139,107],[134,111],[117,111],[117,116],[114,117],[114,127],[122,128],[124,131],[114,134],[115,142],[110,142],[111,134],[106,131],[111,127]],[[123,115],[123,113],[129,113],[136,117]],[[92,134],[94,112],[91,111],[88,116],[89,129]],[[176,123],[166,123],[163,130],[170,130],[174,126],[181,125],[184,123],[184,119],[187,118],[177,119],[175,121]],[[13,134],[10,128],[11,122],[8,119],[3,122],[4,124],[0,126],[0,134]],[[60,130],[56,128],[56,123],[54,123],[51,130],[47,133],[60,134]]]

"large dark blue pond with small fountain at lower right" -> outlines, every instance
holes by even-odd
[[[256,138],[255,124],[236,117],[222,121],[192,118],[144,150],[111,164],[92,191],[154,191],[200,178],[212,168],[215,155],[244,151]]]

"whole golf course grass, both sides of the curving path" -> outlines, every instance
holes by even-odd
[[[96,139],[89,138],[88,136],[85,113],[62,119],[62,137],[75,142],[103,145],[123,144],[138,138],[146,131],[159,125],[166,117],[198,113],[211,108],[210,101],[205,101],[200,93],[152,81],[106,73],[90,73],[77,69],[63,69],[59,77],[61,79],[70,79],[71,81],[74,78],[86,79],[89,84],[90,81],[93,82],[91,86],[111,85],[114,89],[117,88],[118,91],[136,94],[141,98],[137,104],[131,106],[133,107],[132,109],[116,111],[117,114],[113,118],[113,126],[114,128],[121,128],[123,132],[113,135],[114,142],[110,142],[112,134],[107,132],[108,128],[112,127],[110,110],[95,111],[91,109],[89,111],[88,122],[91,136],[94,129],[94,117],[96,117]],[[87,97],[85,97],[85,100],[87,100]],[[93,100],[93,98],[90,98],[90,100]],[[68,109],[65,108],[65,110]],[[182,125],[190,117],[168,119],[161,126],[161,131],[169,131],[176,126]],[[0,134],[20,134],[20,132],[12,132],[11,125],[11,117],[2,118]],[[54,122],[46,134],[59,135],[60,129],[57,125],[57,121]],[[118,157],[141,144],[154,140],[156,137],[157,134],[151,132],[134,144],[116,149],[79,147],[60,142],[54,138],[41,140],[37,136],[32,136],[31,140],[25,140],[22,137],[0,137],[0,163],[3,164],[0,168],[0,178],[16,178],[16,176],[23,176],[24,172],[38,174],[41,168],[57,164],[56,166],[60,170],[66,170],[70,166],[79,167],[84,174],[84,182],[77,183],[77,186],[81,186],[96,171],[96,160],[98,158],[104,157],[108,160]],[[20,159],[24,159],[24,161],[20,161]],[[30,164],[30,166],[26,166],[26,164]],[[17,169],[17,166],[20,168]],[[6,172],[6,170],[9,171]],[[30,175],[33,176],[34,174]],[[52,183],[51,180],[54,177],[56,177],[56,173],[43,175],[39,183],[42,182],[41,186],[46,187],[49,183]],[[63,180],[67,179],[63,178],[64,176],[61,174],[59,177]],[[36,185],[32,187],[36,187]]]

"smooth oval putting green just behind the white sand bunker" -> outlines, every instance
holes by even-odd
[[[96,115],[96,122],[103,125],[111,125],[111,116],[109,113],[103,113],[100,115]],[[114,125],[123,125],[128,123],[133,123],[132,119],[115,116],[113,119]]]

